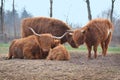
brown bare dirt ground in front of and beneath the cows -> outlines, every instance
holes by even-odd
[[[90,60],[87,53],[70,55],[69,61],[50,61],[5,60],[0,54],[0,80],[120,80],[120,54]]]

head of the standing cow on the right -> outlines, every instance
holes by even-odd
[[[82,45],[85,41],[85,33],[86,31],[83,29],[77,29],[77,30],[72,30],[68,31],[69,34],[72,35],[72,39],[75,42],[76,46],[78,47],[79,45]]]

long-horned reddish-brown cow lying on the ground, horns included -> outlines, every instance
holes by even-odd
[[[43,59],[48,56],[51,48],[57,46],[61,37],[52,36],[51,34],[37,34],[30,28],[34,35],[16,39],[9,47],[8,59],[14,58],[27,58],[27,59]]]

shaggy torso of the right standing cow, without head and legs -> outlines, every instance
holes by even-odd
[[[112,23],[106,19],[92,20],[86,27],[86,42],[92,45],[96,42],[105,41],[113,30]]]

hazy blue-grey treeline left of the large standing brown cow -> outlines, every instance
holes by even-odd
[[[22,19],[32,17],[30,13],[24,8],[22,13],[18,13],[15,10],[14,16],[13,11],[4,12],[4,24],[3,34],[0,33],[0,42],[9,42],[14,38],[20,38],[21,36],[21,22]],[[1,25],[1,23],[0,23]]]

